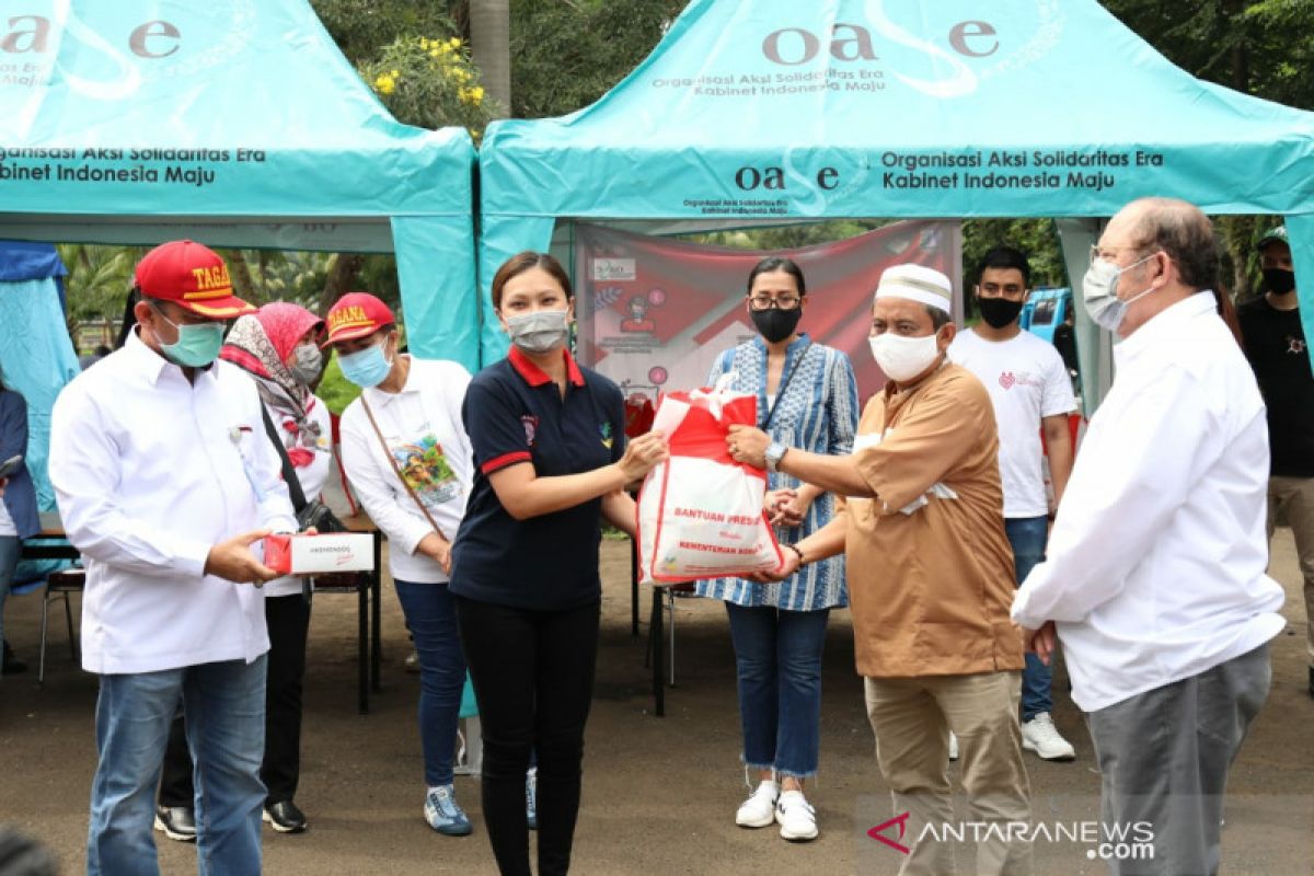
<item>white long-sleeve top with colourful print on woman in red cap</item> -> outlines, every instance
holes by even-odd
[[[402,391],[367,389],[361,398],[369,402],[393,460],[443,537],[452,541],[474,483],[474,454],[461,424],[461,402],[470,374],[444,360],[413,356],[410,362]],[[397,479],[361,399],[348,405],[342,415],[342,465],[369,519],[388,536],[393,578],[445,582],[448,577],[438,562],[415,550],[434,527]]]

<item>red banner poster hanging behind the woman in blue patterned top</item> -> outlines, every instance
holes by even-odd
[[[867,347],[882,272],[924,264],[947,273],[961,290],[957,235],[954,222],[897,222],[848,240],[762,252],[579,225],[579,359],[616,381],[631,403],[702,386],[717,353],[757,334],[744,299],[753,265],[783,255],[799,264],[808,284],[799,331],[849,355],[866,401],[883,386]],[[954,309],[961,318],[961,293]]]

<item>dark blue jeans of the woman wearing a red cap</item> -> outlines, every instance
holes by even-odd
[[[419,654],[419,741],[424,750],[424,783],[452,784],[456,766],[456,722],[465,686],[465,657],[456,632],[456,608],[445,583],[396,580],[406,629]]]

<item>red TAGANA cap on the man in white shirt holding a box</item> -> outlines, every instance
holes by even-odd
[[[229,268],[214,250],[192,240],[163,243],[137,263],[137,286],[147,298],[172,301],[213,319],[255,313],[233,294]]]

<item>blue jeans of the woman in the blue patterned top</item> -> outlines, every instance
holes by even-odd
[[[821,746],[821,650],[830,609],[725,603],[738,671],[744,763],[779,776],[816,775]]]

